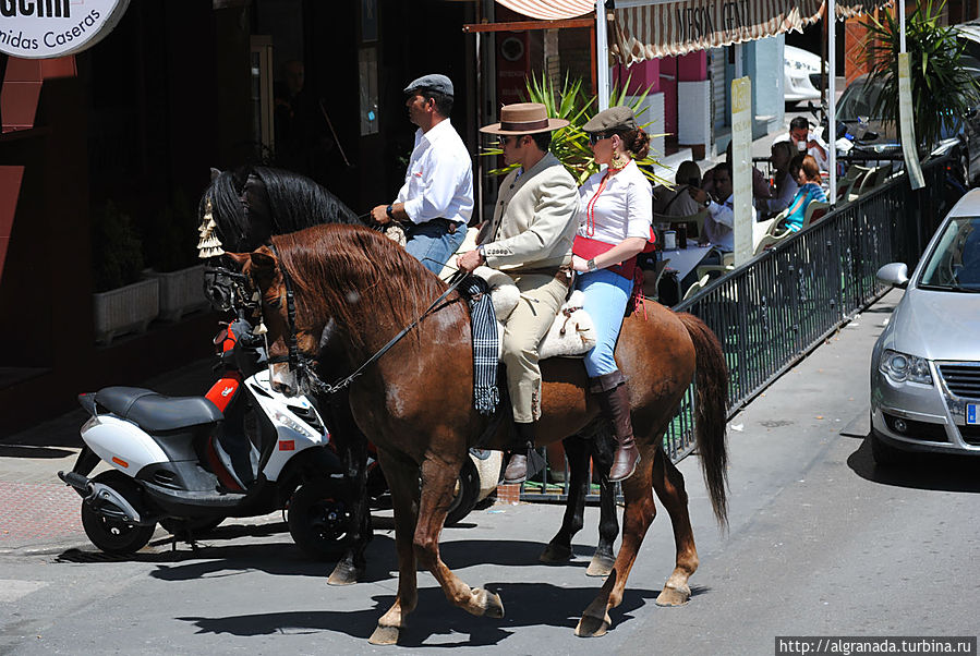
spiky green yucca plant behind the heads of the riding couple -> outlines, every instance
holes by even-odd
[[[609,95],[609,107],[617,105],[629,106],[634,113],[640,113],[643,108],[643,101],[646,99],[646,93],[638,96],[632,102],[627,102],[626,89],[629,88],[629,81],[621,88],[614,88]],[[557,89],[551,81],[544,75],[540,78],[532,75],[527,81],[527,95],[522,98],[525,102],[541,102],[547,108],[548,116],[554,119],[565,119],[569,122],[568,126],[556,130],[552,134],[552,153],[558,158],[568,172],[572,174],[576,182],[582,184],[590,175],[598,171],[598,165],[592,159],[592,149],[589,147],[589,134],[582,130],[582,125],[588,123],[592,117],[598,113],[598,104],[595,98],[589,98],[582,90],[581,80],[569,80],[566,75],[561,89]],[[649,131],[649,123],[641,125]],[[651,136],[660,136],[651,134]],[[482,155],[496,156],[504,151],[499,147],[484,148]],[[638,159],[637,165],[643,174],[654,184],[663,184],[667,181],[653,173],[653,165],[660,165],[651,151],[643,159]],[[503,175],[513,170],[517,165],[505,167],[501,169],[493,169],[491,175]]]

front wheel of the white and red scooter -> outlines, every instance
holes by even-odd
[[[300,486],[289,502],[293,542],[315,560],[337,560],[351,539],[351,513],[341,484],[329,478]]]

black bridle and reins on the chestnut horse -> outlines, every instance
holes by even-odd
[[[460,283],[467,279],[467,274],[462,271],[457,271],[449,279],[449,288],[443,292],[438,299],[432,302],[432,304],[419,315],[411,324],[406,326],[399,331],[398,335],[392,337],[388,343],[382,347],[374,355],[367,359],[364,364],[359,366],[352,374],[342,378],[334,384],[325,382],[319,376],[316,375],[316,360],[302,353],[299,348],[298,340],[298,331],[297,331],[297,307],[295,307],[295,293],[293,292],[293,283],[292,278],[289,272],[286,270],[286,267],[282,266],[282,258],[279,257],[279,251],[276,248],[275,244],[269,244],[273,250],[273,254],[276,256],[278,260],[279,272],[282,275],[282,282],[286,287],[286,316],[289,321],[289,336],[286,338],[287,347],[289,349],[289,353],[287,355],[278,355],[276,357],[269,357],[269,364],[277,363],[288,363],[290,370],[295,372],[297,374],[297,382],[302,387],[302,382],[306,382],[317,394],[323,396],[331,396],[340,392],[348,387],[350,387],[351,382],[354,379],[364,373],[368,366],[377,362],[385,353],[387,353],[395,344],[397,344],[409,331],[419,325],[419,321],[424,319],[428,314],[432,313],[435,307],[441,303],[450,293],[452,293]]]

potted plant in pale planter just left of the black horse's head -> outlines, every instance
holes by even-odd
[[[207,305],[204,265],[197,259],[197,231],[186,196],[177,192],[171,203],[144,227],[147,277],[160,284],[160,318],[178,321]]]

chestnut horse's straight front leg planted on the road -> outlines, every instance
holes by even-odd
[[[395,550],[398,554],[398,593],[395,604],[377,622],[367,642],[375,645],[394,645],[404,628],[406,618],[419,602],[419,582],[415,574],[415,550],[412,535],[416,524],[416,495],[419,467],[411,461],[378,449],[378,462],[391,490],[395,507]]]

